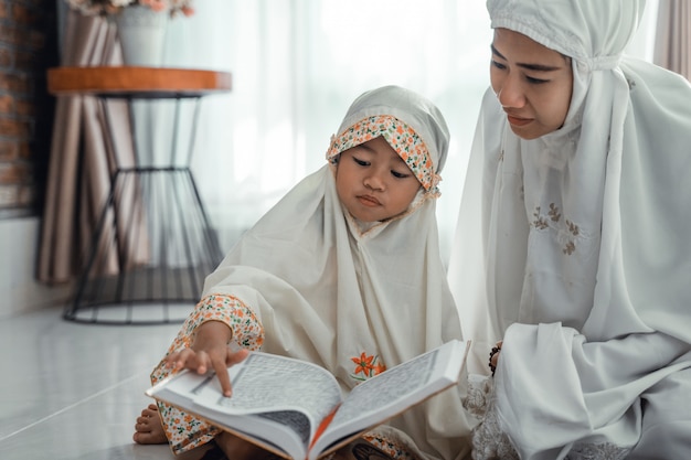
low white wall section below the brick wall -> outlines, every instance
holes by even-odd
[[[39,217],[0,220],[0,320],[64,304],[71,296],[71,286],[35,280],[39,229]]]

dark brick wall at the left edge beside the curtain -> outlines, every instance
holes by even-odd
[[[56,1],[0,0],[0,220],[40,215],[59,63]]]

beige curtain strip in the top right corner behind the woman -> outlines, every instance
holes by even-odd
[[[691,2],[659,0],[653,62],[691,79]]]

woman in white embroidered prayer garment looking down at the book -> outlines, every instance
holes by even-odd
[[[623,56],[644,1],[487,6],[449,267],[496,366],[476,458],[688,458],[691,87]]]

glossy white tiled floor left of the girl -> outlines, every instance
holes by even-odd
[[[0,459],[176,458],[131,436],[179,328],[67,322],[62,308],[0,320]]]

